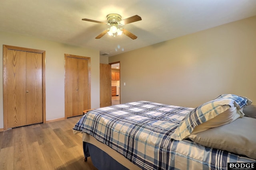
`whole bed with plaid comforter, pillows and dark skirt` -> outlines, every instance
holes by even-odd
[[[88,111],[73,132],[98,169],[226,170],[256,163],[256,119],[243,112],[251,103],[233,94],[196,108],[129,102]]]

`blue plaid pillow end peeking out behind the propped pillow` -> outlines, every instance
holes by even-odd
[[[235,101],[235,106],[238,109],[242,109],[244,106],[248,106],[250,104],[252,104],[252,100],[246,98],[246,97],[242,97],[242,96],[236,96],[234,94],[222,94],[220,96],[218,96],[216,99],[220,99],[220,98],[230,98],[232,100]]]

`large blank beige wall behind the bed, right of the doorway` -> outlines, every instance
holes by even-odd
[[[256,16],[109,57],[122,65],[121,103],[196,107],[226,93],[256,103],[255,30]]]

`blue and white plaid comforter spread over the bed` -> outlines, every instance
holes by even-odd
[[[89,111],[74,126],[145,170],[226,170],[227,162],[255,162],[192,141],[170,138],[193,108],[147,101]]]

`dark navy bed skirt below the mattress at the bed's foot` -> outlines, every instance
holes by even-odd
[[[106,152],[90,143],[83,142],[83,149],[85,161],[87,157],[91,156],[92,164],[98,170],[128,170],[128,168],[114,160]]]

